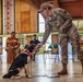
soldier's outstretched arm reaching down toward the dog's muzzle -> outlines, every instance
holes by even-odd
[[[43,42],[42,42],[43,45],[46,43],[46,40],[47,40],[47,38],[48,38],[48,36],[49,36],[50,32],[51,32],[51,28],[52,28],[52,26],[49,25],[48,22],[46,22],[45,23],[45,33],[44,33]]]

